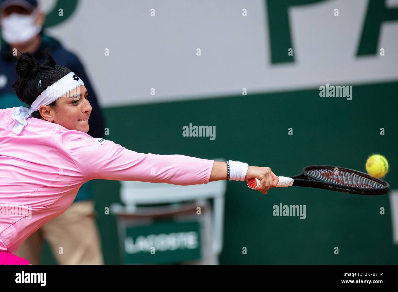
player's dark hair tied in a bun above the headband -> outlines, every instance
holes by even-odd
[[[12,85],[12,89],[15,90],[18,99],[25,102],[28,107],[31,107],[47,87],[72,72],[68,68],[57,65],[50,54],[47,56],[47,61],[43,65],[39,64],[30,52],[21,54],[18,59],[15,69],[18,79]],[[57,106],[57,101],[51,102],[50,106]],[[33,112],[32,116],[41,119],[39,110]]]

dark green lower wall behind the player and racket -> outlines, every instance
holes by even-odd
[[[269,166],[279,176],[295,175],[311,164],[365,171],[368,155],[382,153],[390,163],[385,179],[396,189],[397,89],[398,83],[354,86],[351,101],[319,97],[319,90],[312,89],[107,108],[107,138],[143,153]],[[216,139],[183,137],[182,127],[189,123],[216,126]],[[287,134],[290,127],[293,135]],[[119,202],[119,182],[93,182],[105,263],[118,264],[116,222],[113,215],[104,215],[104,208]],[[272,206],[281,202],[306,205],[306,219],[274,217]],[[246,255],[242,247],[247,247]],[[228,182],[220,263],[398,264],[388,195],[310,188],[263,195],[243,182]]]

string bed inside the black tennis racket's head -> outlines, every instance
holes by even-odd
[[[370,176],[363,176],[347,170],[339,170],[338,174],[335,174],[334,169],[315,168],[306,170],[306,173],[310,176],[316,177],[318,180],[340,184],[342,186],[368,189],[379,189],[385,187],[384,184]]]

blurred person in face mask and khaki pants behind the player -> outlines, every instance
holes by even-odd
[[[40,62],[49,53],[57,64],[70,68],[84,80],[92,106],[88,135],[102,137],[101,109],[84,68],[75,54],[65,50],[59,41],[43,33],[45,15],[39,10],[37,1],[0,0],[0,13],[4,40],[0,51],[0,108],[25,106],[12,91],[12,84],[17,79],[15,64],[21,53],[31,52]],[[81,186],[68,210],[27,238],[16,255],[28,259],[33,265],[40,264],[43,238],[49,242],[59,264],[103,264],[90,182]]]

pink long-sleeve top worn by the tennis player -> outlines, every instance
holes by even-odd
[[[88,180],[209,182],[213,160],[137,153],[37,118],[27,119],[16,135],[14,109],[0,109],[0,251],[16,252],[33,232],[68,209]]]

